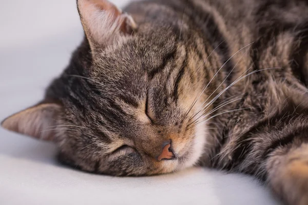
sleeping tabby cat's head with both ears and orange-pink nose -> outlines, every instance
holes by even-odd
[[[2,126],[55,142],[61,161],[89,172],[151,175],[196,164],[205,128],[191,119],[204,76],[179,32],[136,23],[108,1],[79,0],[78,9],[86,38],[70,65],[41,103]]]

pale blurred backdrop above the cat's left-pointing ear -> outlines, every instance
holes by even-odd
[[[2,119],[42,97],[48,82],[68,64],[83,30],[75,0],[0,2],[0,88],[6,88],[0,94],[10,99],[3,102]],[[128,0],[113,2],[121,7]]]

